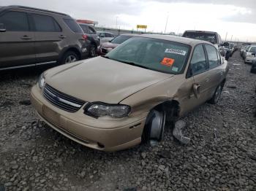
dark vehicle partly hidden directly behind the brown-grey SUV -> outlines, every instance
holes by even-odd
[[[97,31],[95,28],[89,24],[86,23],[80,23],[78,21],[78,24],[83,29],[83,32],[88,37],[89,41],[91,42],[90,46],[90,56],[94,57],[96,56],[97,47],[99,46],[99,36],[97,35]]]

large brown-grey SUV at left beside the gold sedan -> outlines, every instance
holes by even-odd
[[[31,7],[0,7],[0,44],[0,70],[71,63],[89,55],[89,39],[72,17]]]

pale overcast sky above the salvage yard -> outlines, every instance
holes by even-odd
[[[184,30],[217,31],[222,39],[256,41],[255,0],[0,0],[65,12],[76,19],[97,20],[99,26],[183,33]],[[116,26],[117,21],[117,26]]]

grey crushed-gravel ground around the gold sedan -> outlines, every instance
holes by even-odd
[[[61,136],[29,102],[43,69],[0,75],[2,190],[256,190],[256,74],[238,52],[217,105],[184,117],[184,146],[171,130],[155,147],[105,153]]]

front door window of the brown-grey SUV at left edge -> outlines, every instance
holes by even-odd
[[[0,23],[3,23],[7,31],[29,31],[29,20],[26,12],[6,12],[0,16]]]

